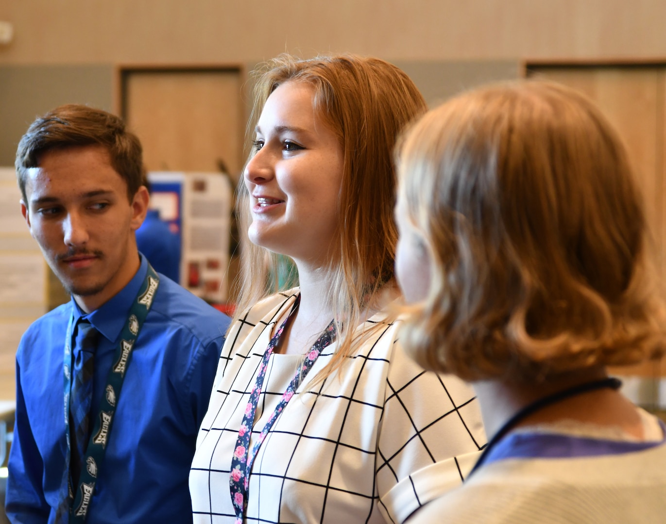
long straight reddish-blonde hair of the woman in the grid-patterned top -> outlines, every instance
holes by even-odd
[[[254,136],[264,104],[280,84],[305,82],[314,88],[314,109],[338,137],[344,155],[336,254],[326,268],[332,285],[329,296],[322,297],[335,314],[338,349],[322,372],[325,378],[353,352],[361,312],[372,307],[372,299],[393,279],[397,231],[392,152],[404,126],[426,111],[426,102],[414,82],[396,66],[354,55],[308,60],[280,55],[254,72],[254,78],[248,135]],[[278,255],[248,240],[252,221],[248,197],[241,180],[236,201],[242,237],[236,318],[281,291],[278,277],[284,274]]]

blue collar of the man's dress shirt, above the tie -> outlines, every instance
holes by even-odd
[[[109,299],[109,301],[88,315],[81,310],[74,297],[72,297],[74,325],[81,318],[87,319],[109,342],[117,340],[127,321],[132,303],[137,293],[139,293],[139,289],[141,289],[141,284],[143,284],[146,278],[146,273],[148,273],[148,261],[146,257],[139,253],[139,259],[141,259],[139,271],[135,273],[131,281],[119,293]]]

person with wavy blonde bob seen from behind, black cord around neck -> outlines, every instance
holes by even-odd
[[[666,340],[615,131],[569,88],[514,82],[432,110],[398,158],[402,342],[473,383],[492,436],[414,523],[662,522],[665,427],[605,371]]]

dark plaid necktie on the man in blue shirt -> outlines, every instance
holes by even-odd
[[[91,431],[91,402],[93,397],[93,365],[99,331],[89,323],[80,321],[72,348],[72,388],[69,397],[69,442],[71,454],[69,473],[72,489],[77,489],[81,463],[85,458]]]

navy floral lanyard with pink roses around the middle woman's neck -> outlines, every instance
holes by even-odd
[[[296,392],[296,389],[298,389],[300,382],[308,374],[310,368],[312,368],[312,364],[314,364],[314,361],[317,359],[320,352],[322,352],[326,346],[333,342],[336,337],[335,323],[334,321],[331,321],[322,335],[317,339],[316,342],[314,342],[312,348],[310,348],[310,351],[306,354],[306,358],[304,358],[303,363],[296,371],[296,374],[294,375],[294,378],[292,378],[288,388],[282,394],[280,403],[275,408],[268,422],[266,422],[264,429],[261,430],[261,434],[258,436],[256,442],[254,443],[254,447],[252,448],[252,453],[248,454],[248,449],[250,447],[250,434],[252,433],[252,426],[254,425],[254,415],[256,414],[256,406],[259,402],[261,388],[264,384],[264,376],[266,376],[266,368],[268,368],[268,359],[270,358],[274,348],[278,345],[278,342],[280,341],[280,335],[282,334],[282,331],[284,331],[288,321],[292,318],[292,315],[294,314],[294,311],[296,311],[299,303],[300,295],[296,297],[296,301],[294,302],[288,317],[284,319],[284,322],[282,325],[280,325],[280,328],[276,334],[274,334],[273,338],[271,338],[270,342],[268,342],[268,348],[266,348],[266,352],[264,352],[264,358],[262,360],[261,366],[259,367],[259,373],[256,376],[256,384],[254,384],[254,387],[252,388],[250,400],[245,407],[243,422],[240,425],[240,429],[238,430],[238,440],[236,440],[234,456],[231,459],[231,473],[229,477],[231,501],[234,505],[234,511],[236,511],[236,524],[242,524],[243,517],[247,509],[249,477],[250,471],[252,471],[252,464],[254,463],[256,453],[258,452],[262,442],[264,442],[268,431],[273,426],[278,416],[280,416],[282,410],[284,410],[284,406],[286,406],[287,402],[289,402],[292,396],[294,396],[294,392]]]

